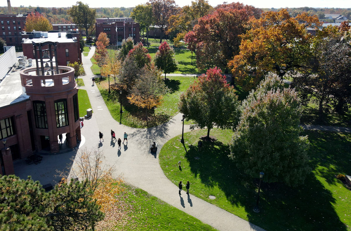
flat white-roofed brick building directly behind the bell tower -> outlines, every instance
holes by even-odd
[[[27,58],[35,59],[34,43],[57,42],[58,65],[67,66],[68,63],[81,62],[82,55],[80,52],[79,33],[72,32],[27,32],[22,35],[23,55]]]

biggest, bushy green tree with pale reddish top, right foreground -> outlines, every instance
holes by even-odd
[[[307,137],[300,136],[297,93],[268,76],[243,101],[240,122],[230,142],[231,158],[244,173],[267,182],[302,184],[310,172]]]

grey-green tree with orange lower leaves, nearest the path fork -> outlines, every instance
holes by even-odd
[[[145,64],[127,99],[131,104],[145,109],[147,121],[147,110],[160,105],[163,94],[166,94],[168,90],[161,77],[161,71],[154,64]]]

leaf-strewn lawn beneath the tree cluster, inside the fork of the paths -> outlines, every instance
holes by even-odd
[[[185,91],[189,85],[194,82],[193,77],[181,77],[175,76],[170,77],[166,81],[166,85],[171,89],[171,92],[164,96],[161,106],[159,106],[153,113],[153,110],[148,110],[148,121],[145,120],[145,110],[140,110],[134,105],[130,105],[125,96],[122,97],[122,120],[121,123],[130,127],[145,128],[154,127],[159,124],[166,123],[170,118],[178,113],[177,103],[180,94]],[[99,84],[95,82],[99,88],[99,91],[104,98],[104,101],[110,111],[112,117],[116,121],[120,121],[120,104],[118,92],[112,91],[109,100],[108,97],[108,80],[104,78],[104,81]],[[113,79],[110,79],[110,84],[113,83]],[[155,115],[154,115],[155,114]]]

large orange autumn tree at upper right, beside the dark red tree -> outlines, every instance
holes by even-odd
[[[313,36],[307,27],[322,23],[318,17],[302,13],[292,18],[286,9],[265,12],[252,19],[252,28],[241,35],[240,52],[228,63],[237,83],[250,90],[268,72],[281,79],[286,72],[304,68],[311,57]]]

